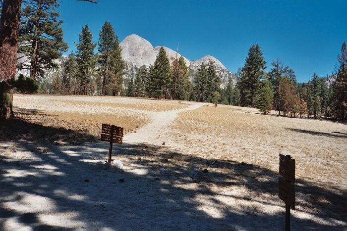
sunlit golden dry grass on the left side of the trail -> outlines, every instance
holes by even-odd
[[[181,109],[178,101],[113,96],[14,95],[14,112],[36,124],[62,127],[99,137],[101,124],[114,124],[125,134],[148,123],[155,111]]]

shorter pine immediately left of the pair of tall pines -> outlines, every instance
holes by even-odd
[[[67,56],[67,59],[62,62],[62,93],[71,94],[73,86],[75,86],[74,81],[76,81],[76,57],[71,51]]]

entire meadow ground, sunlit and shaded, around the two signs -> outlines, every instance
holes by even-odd
[[[0,124],[0,230],[283,230],[279,153],[296,160],[292,230],[347,228],[347,125],[65,97],[15,96],[23,119]],[[113,156],[124,171],[96,164],[108,153],[97,117],[127,129]]]

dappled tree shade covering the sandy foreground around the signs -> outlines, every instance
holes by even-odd
[[[84,143],[70,145],[76,139]],[[108,143],[20,119],[0,122],[0,142],[7,148],[0,155],[0,230],[13,223],[33,230],[284,227],[278,174],[261,166],[189,156],[165,146],[123,144],[114,146],[114,158],[126,159],[128,168],[103,169],[95,163],[107,159]],[[230,193],[239,188],[244,194]],[[294,212],[293,230],[344,230],[331,224],[347,222],[346,191],[297,180],[296,194],[298,211],[325,222]]]

